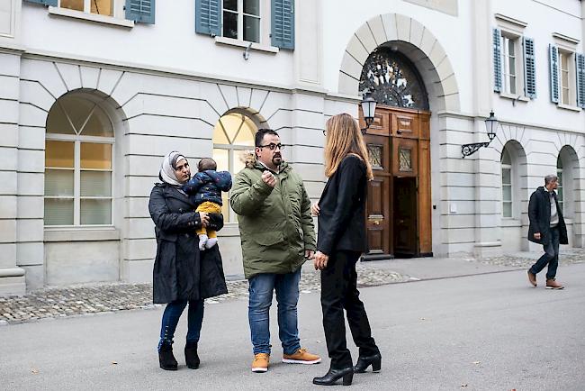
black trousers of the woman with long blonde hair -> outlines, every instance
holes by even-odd
[[[323,329],[331,368],[335,369],[353,366],[347,349],[344,309],[359,355],[370,356],[380,351],[372,338],[364,303],[357,291],[356,262],[359,257],[360,253],[355,251],[335,251],[329,257],[327,268],[321,270]]]

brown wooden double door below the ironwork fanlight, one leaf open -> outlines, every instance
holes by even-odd
[[[429,118],[418,110],[376,108],[365,134],[374,170],[366,259],[432,256]]]

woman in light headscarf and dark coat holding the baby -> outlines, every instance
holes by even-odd
[[[188,368],[199,368],[197,345],[203,321],[203,299],[228,292],[218,246],[200,252],[195,229],[219,231],[221,214],[194,212],[183,186],[191,177],[189,163],[177,151],[166,154],[150,193],[148,211],[155,223],[157,257],[153,270],[153,301],[166,303],[158,341],[160,368],[176,370],[173,337],[188,305],[184,359]]]

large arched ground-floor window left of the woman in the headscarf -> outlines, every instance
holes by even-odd
[[[47,118],[45,225],[112,224],[112,122],[85,94],[58,99]]]

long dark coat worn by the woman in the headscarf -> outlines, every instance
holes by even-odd
[[[219,246],[199,250],[195,232],[201,226],[189,198],[175,186],[156,184],[148,211],[155,223],[157,257],[153,269],[153,302],[197,300],[228,293]],[[208,228],[223,227],[221,214],[210,214]]]

